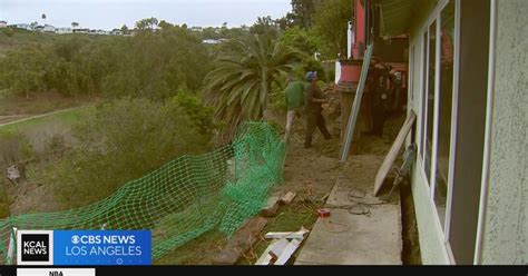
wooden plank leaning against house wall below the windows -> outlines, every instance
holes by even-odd
[[[375,175],[375,181],[374,181],[374,196],[378,195],[378,193],[381,189],[381,186],[383,185],[383,181],[385,180],[387,175],[392,168],[392,165],[394,164],[394,160],[398,157],[398,152],[400,152],[401,146],[405,141],[405,137],[409,134],[409,131],[412,128],[412,125],[417,120],[417,115],[411,110],[411,114],[407,118],[405,122],[403,124],[403,127],[400,129],[400,132],[398,134],[397,139],[391,146],[391,149],[389,150],[389,154],[385,156],[385,159],[383,160],[383,164],[381,165],[380,169],[378,170],[378,174]]]

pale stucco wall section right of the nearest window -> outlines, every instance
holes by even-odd
[[[528,2],[497,1],[482,264],[528,264]]]

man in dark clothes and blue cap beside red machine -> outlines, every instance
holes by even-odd
[[[306,117],[306,132],[304,137],[304,148],[312,147],[312,136],[315,127],[319,128],[326,140],[331,139],[326,124],[322,115],[323,103],[327,103],[329,100],[323,97],[321,89],[317,86],[317,72],[309,71],[306,73],[306,86],[304,87],[304,114]]]

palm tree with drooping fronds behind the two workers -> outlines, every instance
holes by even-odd
[[[267,36],[251,34],[223,45],[218,65],[205,83],[207,102],[229,127],[227,138],[241,121],[262,119],[272,83],[291,71],[300,56]]]

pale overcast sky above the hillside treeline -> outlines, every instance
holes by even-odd
[[[257,17],[281,18],[291,10],[290,0],[0,0],[0,20],[11,23],[47,23],[111,30],[134,27],[155,17],[170,23],[202,27],[251,26]],[[46,14],[46,21],[41,19]]]

